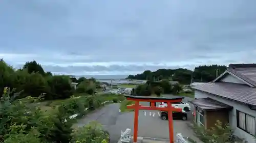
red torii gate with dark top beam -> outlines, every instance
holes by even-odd
[[[138,121],[139,110],[160,110],[168,112],[169,122],[169,140],[170,143],[174,143],[174,129],[173,129],[173,111],[181,112],[181,108],[175,108],[172,106],[174,102],[181,102],[184,97],[181,98],[165,98],[165,97],[148,97],[148,96],[130,96],[124,95],[127,100],[135,101],[135,105],[127,105],[127,109],[134,109],[134,135],[133,140],[137,142],[138,138]],[[142,106],[139,102],[150,102],[150,106]],[[167,102],[167,107],[156,107],[156,102]]]

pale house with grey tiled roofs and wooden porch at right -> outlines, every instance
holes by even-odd
[[[195,120],[205,128],[217,120],[229,124],[234,135],[255,142],[256,64],[230,64],[214,81],[195,87]]]

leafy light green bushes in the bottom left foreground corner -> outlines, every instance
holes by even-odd
[[[35,98],[11,101],[6,93],[0,101],[0,136],[6,142],[69,142],[71,125],[61,116],[46,115]]]

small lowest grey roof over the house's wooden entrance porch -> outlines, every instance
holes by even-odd
[[[218,110],[218,109],[225,109],[225,108],[232,108],[231,106],[213,100],[211,98],[199,98],[188,101],[203,110]]]

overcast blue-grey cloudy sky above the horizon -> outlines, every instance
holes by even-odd
[[[256,1],[2,0],[0,58],[62,74],[256,63]]]

